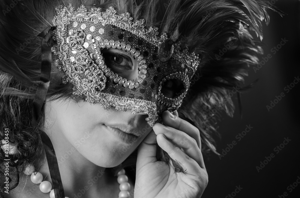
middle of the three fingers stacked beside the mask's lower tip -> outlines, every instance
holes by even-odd
[[[156,135],[164,134],[173,144],[182,148],[182,151],[189,157],[193,158],[201,168],[205,169],[203,156],[199,149],[197,142],[194,138],[187,135],[183,131],[179,131],[172,127],[164,126],[160,123],[156,123],[153,126],[153,130]]]

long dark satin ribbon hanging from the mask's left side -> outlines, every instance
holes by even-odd
[[[50,84],[50,74],[51,74],[51,31],[56,27],[47,27],[38,36],[42,37],[42,64],[41,64],[41,77],[40,83],[33,100],[33,118],[32,123],[38,129],[37,120],[39,118],[39,113],[43,107],[46,94]],[[40,131],[41,140],[44,145],[46,158],[48,161],[50,177],[52,179],[52,184],[54,188],[55,198],[64,198],[64,188],[61,182],[61,176],[58,168],[58,162],[56,159],[55,151],[48,135],[43,131]]]

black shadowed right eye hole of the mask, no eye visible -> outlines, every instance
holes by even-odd
[[[161,87],[161,93],[166,98],[175,98],[185,91],[184,84],[179,79],[167,79]]]

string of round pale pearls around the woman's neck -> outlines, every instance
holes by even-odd
[[[40,172],[34,171],[33,165],[28,165],[25,170],[23,170],[23,173],[26,175],[31,175],[30,179],[35,184],[40,184],[40,190],[43,193],[49,193],[50,192],[50,198],[55,198],[54,195],[54,189],[52,189],[52,185],[48,181],[43,181],[43,175]],[[118,183],[120,184],[120,193],[119,198],[129,198],[130,197],[130,184],[128,183],[128,177],[125,175],[124,168],[119,171],[117,174],[118,176]],[[51,190],[52,189],[52,190]],[[65,197],[69,198],[69,197]]]

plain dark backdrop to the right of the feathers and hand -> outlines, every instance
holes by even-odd
[[[217,141],[217,151],[221,153],[232,141],[237,143],[221,159],[215,154],[205,159],[209,182],[203,198],[225,198],[236,186],[242,189],[236,195],[232,194],[235,197],[277,198],[283,197],[284,192],[288,198],[300,197],[300,184],[295,183],[298,186],[292,192],[287,190],[298,176],[300,178],[300,82],[289,93],[284,90],[294,77],[300,77],[300,1],[278,0],[274,5],[286,15],[281,17],[268,10],[271,22],[263,27],[265,54],[262,57],[271,54],[272,58],[256,73],[250,67],[246,84],[259,81],[242,94],[242,119],[236,108],[233,118],[223,115],[219,122],[218,131],[222,138]],[[280,44],[282,38],[288,42],[273,54],[271,49]],[[270,106],[271,100],[274,101],[281,92],[285,96],[268,111],[266,105]],[[234,100],[237,107],[237,100]],[[235,136],[244,131],[246,125],[253,129],[238,141]],[[291,141],[279,153],[274,152],[287,137]],[[274,158],[258,172],[256,166],[271,153]]]

